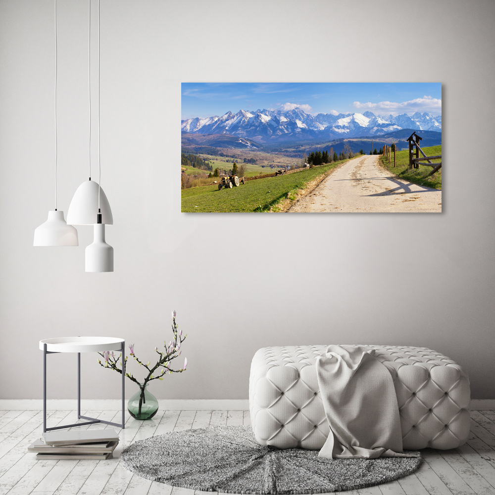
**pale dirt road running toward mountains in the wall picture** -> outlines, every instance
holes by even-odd
[[[289,212],[441,212],[442,191],[398,179],[361,155],[335,169]]]

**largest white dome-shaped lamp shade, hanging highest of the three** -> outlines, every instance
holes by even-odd
[[[71,225],[94,225],[98,215],[98,182],[83,182],[74,193],[67,211],[67,222]],[[101,223],[113,225],[112,210],[103,191],[99,190]]]

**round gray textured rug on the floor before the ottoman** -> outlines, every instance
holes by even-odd
[[[421,456],[325,459],[318,457],[318,450],[261,446],[250,426],[166,433],[131,444],[121,459],[127,469],[148,480],[237,494],[353,490],[396,480],[421,464]]]

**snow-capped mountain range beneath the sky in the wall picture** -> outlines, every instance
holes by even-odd
[[[442,116],[416,112],[412,116],[383,116],[364,113],[318,113],[310,115],[300,108],[282,110],[256,110],[237,113],[228,111],[218,117],[181,121],[182,132],[196,134],[231,134],[261,143],[306,139],[339,139],[357,136],[379,136],[400,129],[442,131]]]

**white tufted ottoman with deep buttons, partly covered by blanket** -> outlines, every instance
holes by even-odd
[[[370,346],[394,379],[405,449],[455,448],[470,427],[469,379],[448,357],[423,347]],[[256,440],[320,449],[329,433],[316,378],[327,346],[264,347],[251,362],[249,409]]]

